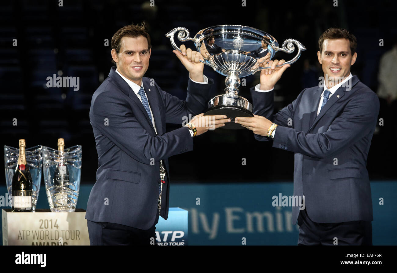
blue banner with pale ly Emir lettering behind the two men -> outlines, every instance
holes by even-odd
[[[77,208],[86,209],[92,185],[81,185]],[[374,245],[397,245],[397,181],[372,181]],[[1,194],[3,193],[3,194]],[[280,195],[281,194],[281,195]],[[6,186],[0,187],[6,195]],[[171,184],[170,207],[189,211],[189,245],[296,245],[298,226],[291,223],[291,202],[275,202],[293,195],[293,183]],[[1,200],[0,200],[1,201]],[[275,203],[281,206],[274,206]],[[299,204],[299,199],[297,199]],[[0,205],[1,202],[0,202]],[[295,204],[296,205],[296,204]],[[2,205],[4,208],[4,205]],[[37,208],[49,208],[44,186]],[[180,217],[185,217],[183,212]],[[170,211],[171,213],[172,211]],[[181,218],[181,219],[182,219]],[[175,220],[175,221],[181,221]],[[174,226],[174,220],[161,218],[157,242],[185,242],[187,230]],[[175,232],[176,231],[176,232]],[[184,234],[183,236],[182,231]],[[157,234],[156,234],[157,235]],[[180,237],[180,238],[179,238]],[[185,240],[185,241],[182,241]]]

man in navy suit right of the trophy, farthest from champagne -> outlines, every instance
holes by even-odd
[[[324,86],[304,89],[273,115],[272,90],[289,65],[276,68],[284,60],[270,61],[272,68],[262,71],[260,84],[251,88],[256,115],[235,122],[256,139],[273,139],[273,147],[295,153],[294,196],[305,197],[304,210],[292,208],[299,245],[372,245],[366,160],[379,99],[350,73],[357,58],[353,35],[330,28],[318,44]]]

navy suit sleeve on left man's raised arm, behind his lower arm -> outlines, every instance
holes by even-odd
[[[205,112],[213,83],[214,81],[210,78],[208,78],[208,84],[195,83],[189,79],[185,101],[163,91],[156,84],[166,106],[166,123],[182,124],[189,116],[193,117]]]

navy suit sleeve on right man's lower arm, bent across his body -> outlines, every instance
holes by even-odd
[[[277,127],[273,147],[287,147],[294,153],[326,158],[367,135],[376,126],[379,99],[372,91],[361,92],[324,133],[309,134],[289,127]]]

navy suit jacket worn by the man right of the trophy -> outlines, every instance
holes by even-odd
[[[294,196],[305,196],[307,214],[317,223],[373,219],[366,161],[379,99],[357,76],[350,88],[338,88],[318,116],[322,87],[304,89],[275,115],[274,92],[251,88],[254,113],[279,125],[273,147],[295,153]],[[299,211],[292,208],[294,224]]]

